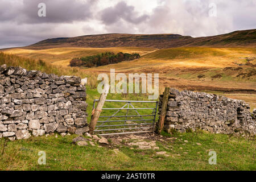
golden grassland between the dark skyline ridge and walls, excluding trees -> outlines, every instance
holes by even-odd
[[[141,59],[123,61],[97,68],[79,68],[82,75],[97,75],[115,69],[122,73],[159,73],[160,87],[178,89],[238,91],[255,90],[256,48],[239,47],[180,47],[168,49],[114,48],[51,48],[31,50],[6,49],[3,52],[42,59],[58,67],[68,67],[74,57],[111,51],[140,53]],[[94,77],[93,77],[94,78]]]

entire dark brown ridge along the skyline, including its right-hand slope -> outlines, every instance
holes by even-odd
[[[27,48],[42,49],[55,47],[152,47],[171,48],[183,46],[230,46],[256,47],[256,29],[234,31],[229,34],[192,38],[178,34],[101,34],[74,38],[42,40]]]

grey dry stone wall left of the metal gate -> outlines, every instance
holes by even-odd
[[[0,138],[27,139],[58,132],[82,134],[86,88],[75,76],[0,66]]]

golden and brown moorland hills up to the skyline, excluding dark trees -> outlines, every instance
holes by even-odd
[[[76,74],[90,76],[89,81],[94,82],[99,73],[109,73],[110,68],[114,68],[117,73],[159,73],[160,89],[172,86],[255,94],[255,45],[256,29],[204,38],[175,34],[88,35],[47,39],[28,47],[2,49],[2,52],[42,59],[47,64],[67,70],[71,69],[69,62],[75,57],[104,52],[139,53],[140,59],[74,70],[77,70]]]

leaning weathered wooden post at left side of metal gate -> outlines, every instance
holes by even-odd
[[[106,97],[108,96],[108,93],[109,93],[109,85],[107,85],[106,88],[104,88],[104,92],[100,96],[100,100],[98,101],[98,105],[97,105],[96,109],[93,110],[92,119],[90,121],[90,126],[89,126],[89,133],[90,134],[93,134],[93,131],[95,130],[98,118],[100,117],[100,114],[101,114],[101,109],[104,105]]]

